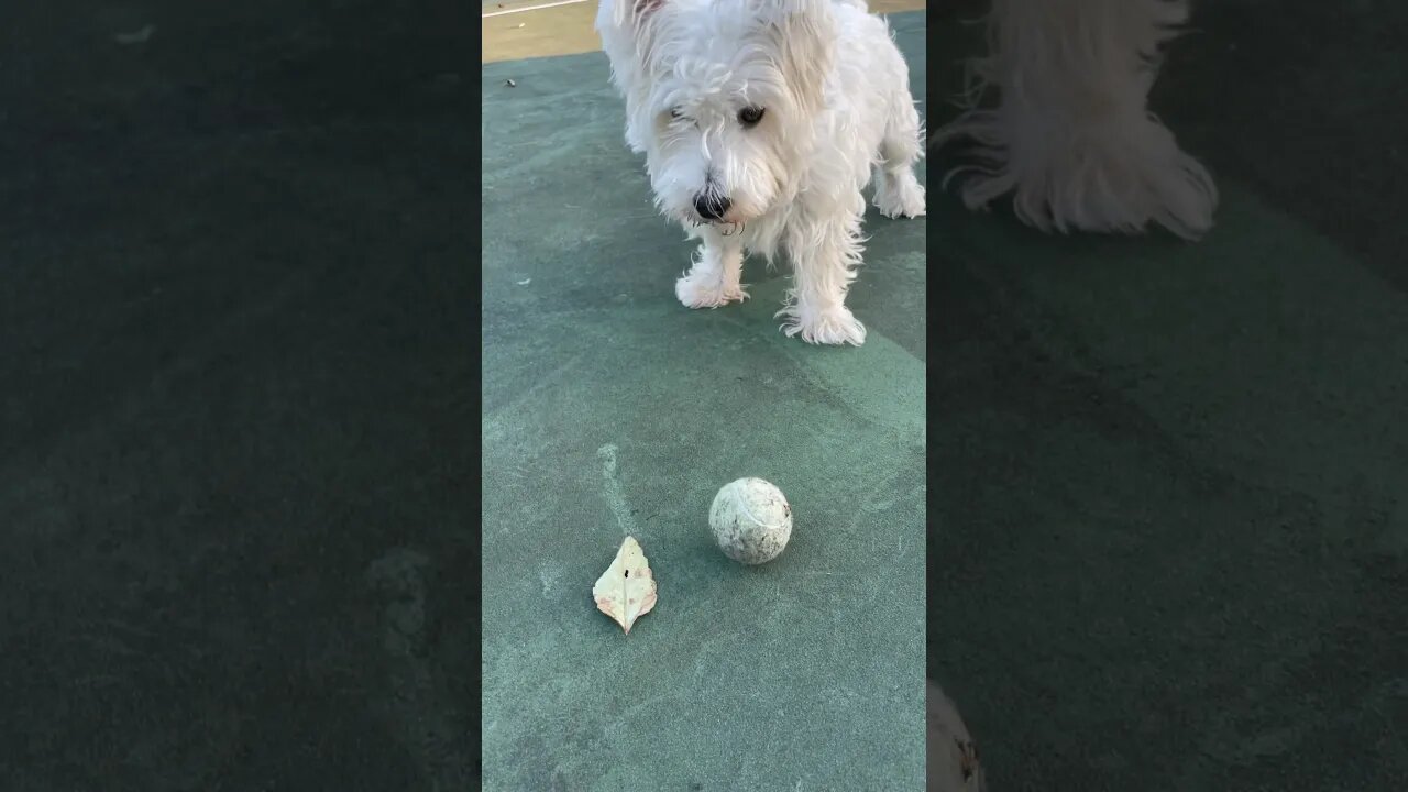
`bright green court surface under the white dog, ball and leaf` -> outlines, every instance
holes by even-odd
[[[924,96],[925,16],[893,23]],[[866,218],[862,348],[786,338],[760,261],[693,311],[605,58],[483,89],[486,789],[921,788],[924,223]],[[793,506],[763,567],[708,528],[741,476]],[[625,534],[659,582],[629,637],[591,599]]]

